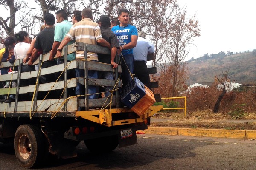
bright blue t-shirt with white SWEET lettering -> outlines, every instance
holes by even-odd
[[[120,46],[130,43],[132,35],[138,36],[137,28],[130,24],[125,27],[114,26],[111,30],[116,34]],[[122,54],[133,54],[133,49],[122,50]]]

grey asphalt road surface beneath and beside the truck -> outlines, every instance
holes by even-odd
[[[255,170],[256,141],[189,136],[138,135],[138,144],[94,155],[84,143],[78,157],[38,170]],[[23,170],[11,145],[0,144],[0,170]]]

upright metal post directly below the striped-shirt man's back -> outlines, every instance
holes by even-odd
[[[89,110],[89,100],[88,100],[88,62],[87,62],[87,45],[84,43],[84,92],[85,92],[85,110]]]

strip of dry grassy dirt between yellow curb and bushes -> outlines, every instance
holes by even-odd
[[[256,119],[253,114],[233,119],[228,114],[212,114],[211,111],[187,115],[184,113],[156,113],[152,116],[151,127],[186,127],[227,130],[256,130]]]

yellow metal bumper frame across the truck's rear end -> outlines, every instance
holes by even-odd
[[[157,113],[163,109],[162,105],[159,106],[151,106],[148,108],[140,118],[136,119],[124,119],[112,121],[112,114],[121,114],[126,112],[133,112],[129,108],[117,108],[117,109],[104,109],[104,110],[90,110],[90,111],[76,111],[76,117],[81,117],[92,122],[99,123],[101,125],[105,125],[108,127],[117,126],[117,125],[126,125],[132,123],[140,123],[143,122],[148,117],[151,117],[154,113]]]

